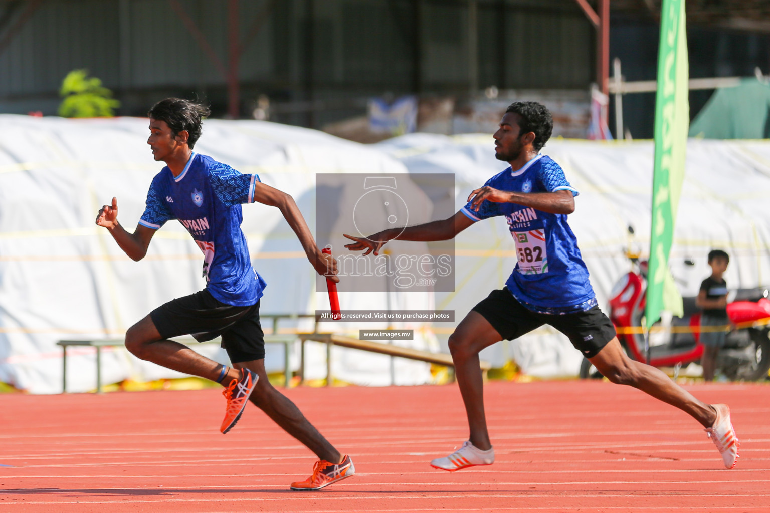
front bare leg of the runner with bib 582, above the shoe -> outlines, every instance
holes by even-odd
[[[449,337],[449,350],[454,361],[454,372],[460,395],[463,396],[468,416],[468,440],[482,451],[492,445],[484,415],[484,379],[479,365],[479,352],[502,340],[497,330],[477,311],[471,310]]]

